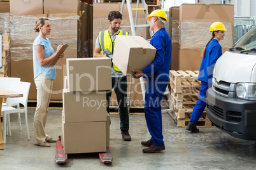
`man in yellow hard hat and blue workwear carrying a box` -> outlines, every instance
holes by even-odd
[[[171,37],[164,28],[164,23],[167,22],[166,13],[155,10],[146,19],[150,21],[150,29],[154,32],[150,44],[157,52],[153,62],[145,69],[133,70],[136,73],[133,77],[146,77],[145,118],[152,138],[141,141],[141,145],[148,147],[142,150],[144,153],[154,153],[165,150],[160,103],[169,81],[172,46]]]

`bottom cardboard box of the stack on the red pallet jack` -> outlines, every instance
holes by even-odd
[[[106,152],[106,122],[64,122],[63,136],[65,154]]]

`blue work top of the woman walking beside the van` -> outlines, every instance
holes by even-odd
[[[201,63],[198,78],[199,81],[212,82],[213,69],[218,58],[222,55],[222,47],[217,39],[212,39],[206,46],[206,51]]]

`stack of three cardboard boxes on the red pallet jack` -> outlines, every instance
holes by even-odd
[[[62,94],[65,154],[106,152],[110,145],[110,117],[106,112],[110,58],[68,58],[67,75]]]

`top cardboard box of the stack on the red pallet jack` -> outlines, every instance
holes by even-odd
[[[110,58],[67,58],[69,91],[110,90]]]

